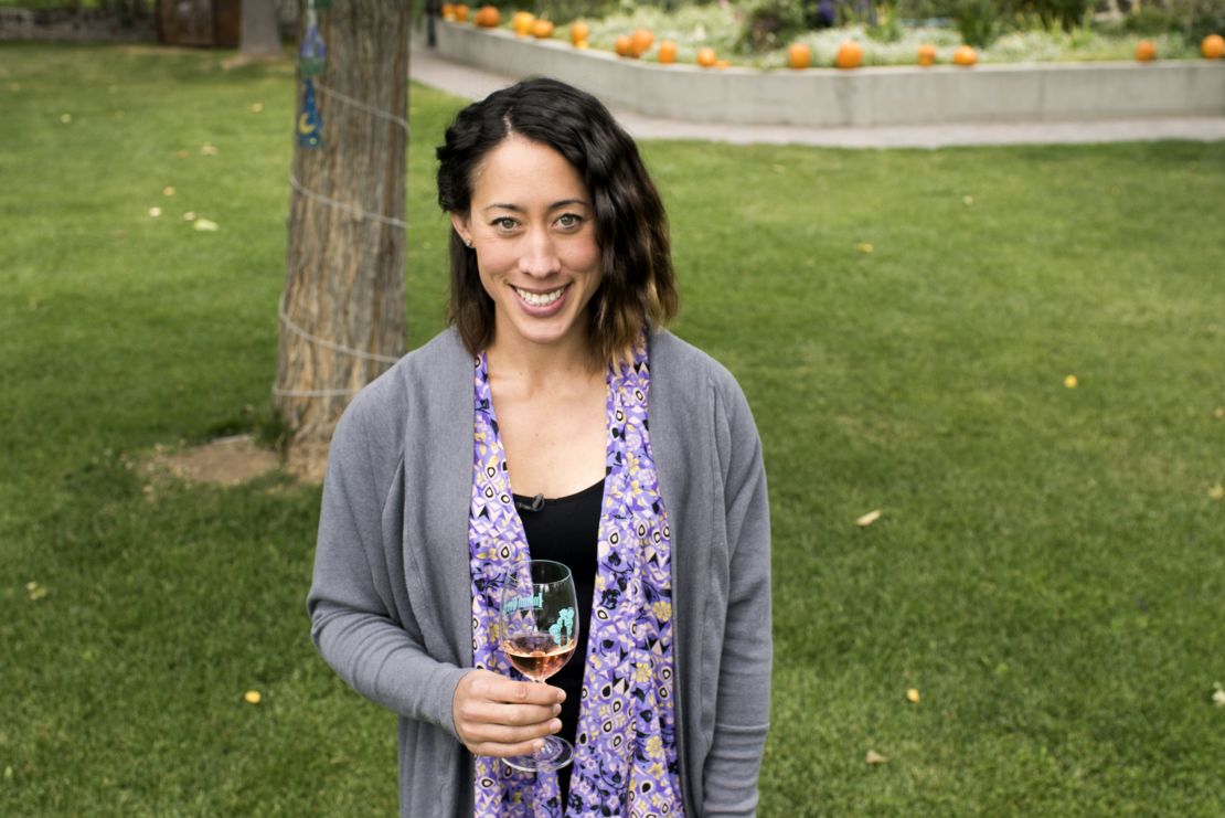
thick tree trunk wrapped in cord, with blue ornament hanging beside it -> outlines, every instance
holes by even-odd
[[[407,337],[409,4],[344,0],[318,17],[322,146],[294,151],[273,389],[288,467],[309,479],[322,476],[345,405],[404,353]]]

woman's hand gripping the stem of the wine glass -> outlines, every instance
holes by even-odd
[[[475,756],[529,756],[544,736],[561,730],[556,716],[565,698],[556,687],[473,670],[456,687],[451,718],[459,741]]]

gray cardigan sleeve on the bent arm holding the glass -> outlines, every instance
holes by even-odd
[[[396,527],[383,519],[388,503],[403,502],[403,456],[393,413],[375,394],[359,394],[332,440],[307,598],[311,638],[358,693],[454,736],[451,700],[469,669],[431,658],[415,623],[394,614],[385,549],[402,549],[386,542],[385,529]]]

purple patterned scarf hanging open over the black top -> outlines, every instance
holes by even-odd
[[[511,496],[484,355],[475,367],[468,518],[473,658],[477,667],[523,678],[492,633],[500,579],[529,558],[528,542]],[[556,773],[521,773],[477,757],[481,818],[685,814],[673,707],[670,545],[647,431],[649,387],[644,334],[632,362],[610,367],[608,376],[608,475],[570,797],[562,808]]]

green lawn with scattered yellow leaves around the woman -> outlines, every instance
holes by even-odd
[[[307,639],[318,491],[131,467],[268,403],[293,80],[223,56],[0,48],[2,814],[394,811]],[[412,89],[412,345],[459,104]],[[643,149],[766,447],[761,813],[1221,814],[1225,143]]]

